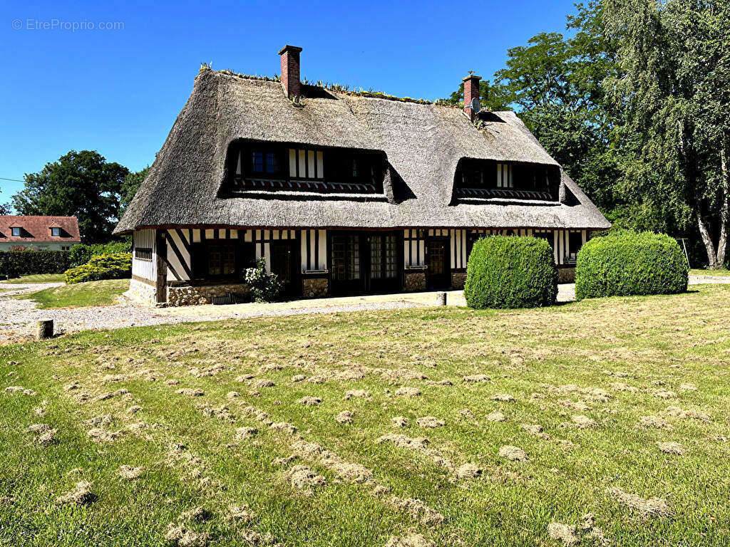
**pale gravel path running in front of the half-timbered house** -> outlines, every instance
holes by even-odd
[[[690,276],[689,284],[730,283],[730,277]],[[301,300],[299,303],[280,304],[237,304],[234,306],[196,306],[195,308],[155,309],[130,300],[120,299],[113,306],[91,308],[36,309],[33,300],[17,300],[12,295],[35,292],[63,283],[0,283],[0,344],[12,344],[31,339],[37,319],[54,319],[55,332],[75,333],[80,330],[104,330],[147,325],[168,325],[173,323],[218,321],[246,317],[279,317],[302,314],[331,314],[339,311],[365,311],[383,309],[404,309],[432,305],[433,295],[393,295],[365,298],[341,298],[323,300]],[[463,291],[450,291],[449,303],[464,306]],[[575,300],[575,284],[561,284],[558,287],[558,301]]]

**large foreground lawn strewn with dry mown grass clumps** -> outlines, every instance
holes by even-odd
[[[6,346],[0,542],[724,546],[728,322],[704,285]]]

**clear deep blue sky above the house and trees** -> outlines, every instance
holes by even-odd
[[[573,11],[572,0],[4,0],[0,177],[23,179],[69,150],[135,171],[152,163],[201,61],[273,75],[277,51],[293,44],[302,77],[439,98],[468,70],[502,68],[508,47],[563,31]],[[101,22],[112,28],[88,28]],[[0,180],[0,203],[22,186]]]

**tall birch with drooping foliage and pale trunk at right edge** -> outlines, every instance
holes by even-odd
[[[695,223],[710,268],[726,258],[730,186],[730,4],[606,0],[618,74],[605,86],[626,112],[623,191],[678,228]]]

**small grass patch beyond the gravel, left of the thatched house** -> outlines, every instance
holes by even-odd
[[[35,300],[40,309],[111,306],[116,298],[128,289],[129,279],[104,279],[104,281],[50,287],[18,295],[15,298]]]

